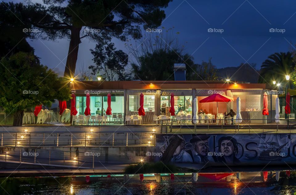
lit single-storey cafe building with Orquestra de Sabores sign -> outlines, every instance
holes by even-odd
[[[268,94],[269,115],[274,119],[275,99],[278,97],[272,87],[263,83],[225,83],[219,81],[74,81],[71,91],[76,95],[77,115],[85,110],[86,94],[90,94],[91,115],[104,115],[107,110],[107,95],[111,95],[112,113],[123,117],[137,115],[140,107],[140,95],[144,95],[145,116],[143,123],[153,123],[153,116],[168,115],[171,94],[174,94],[175,114],[182,109],[192,116],[195,98],[198,109],[206,114],[217,115],[218,112],[236,112],[236,99],[241,99],[241,115],[243,119],[263,119],[263,95]],[[200,100],[219,93],[232,97],[231,102],[207,102]],[[282,112],[282,108],[281,108]],[[265,116],[264,116],[265,119]]]

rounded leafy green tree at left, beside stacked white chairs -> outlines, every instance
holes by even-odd
[[[55,99],[69,100],[70,88],[64,78],[39,64],[32,53],[19,52],[2,60],[0,66],[0,106],[14,115],[13,126],[23,124],[24,109]]]

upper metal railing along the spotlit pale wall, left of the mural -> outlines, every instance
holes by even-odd
[[[155,133],[0,133],[0,146],[28,147],[93,147],[154,146]]]

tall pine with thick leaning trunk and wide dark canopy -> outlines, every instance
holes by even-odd
[[[144,29],[159,26],[165,18],[164,8],[172,0],[43,0],[43,5],[28,1],[8,4],[7,10],[21,15],[28,28],[37,28],[39,33],[30,33],[31,38],[70,40],[64,76],[73,77],[81,39],[126,40],[141,37],[140,25]],[[66,6],[65,6],[66,5]]]

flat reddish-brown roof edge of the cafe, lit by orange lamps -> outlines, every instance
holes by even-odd
[[[71,90],[82,89],[272,89],[265,83],[224,81],[73,81]]]

